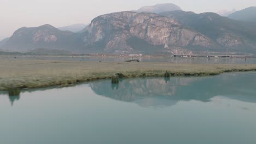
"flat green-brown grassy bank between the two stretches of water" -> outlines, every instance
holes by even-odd
[[[218,75],[234,71],[255,71],[256,64],[173,64],[151,62],[73,62],[35,59],[1,59],[0,90],[13,87],[68,86],[116,73],[125,77]]]

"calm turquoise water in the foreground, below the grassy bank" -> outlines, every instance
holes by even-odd
[[[256,143],[256,73],[0,92],[0,143]]]

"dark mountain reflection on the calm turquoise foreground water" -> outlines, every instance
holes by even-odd
[[[115,100],[141,106],[171,106],[178,101],[211,101],[222,95],[256,103],[255,73],[222,74],[211,77],[171,77],[125,79],[119,85],[108,80],[92,82],[92,91]]]

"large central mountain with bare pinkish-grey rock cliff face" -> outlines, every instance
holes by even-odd
[[[174,19],[124,11],[96,17],[83,33],[84,49],[108,53],[190,53],[191,47],[215,45],[206,36]]]

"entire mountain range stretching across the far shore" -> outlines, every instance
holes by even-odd
[[[0,49],[18,52],[50,49],[83,53],[187,54],[227,50],[256,53],[254,22],[232,20],[215,13],[186,12],[174,4],[101,15],[82,31],[80,27],[79,32],[68,27],[63,29],[65,31],[60,29],[51,25],[22,27],[9,39],[1,41]]]

